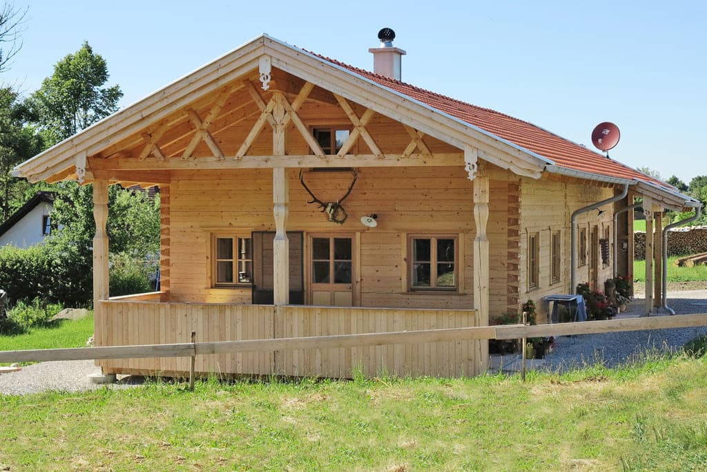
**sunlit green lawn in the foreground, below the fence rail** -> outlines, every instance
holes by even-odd
[[[705,470],[707,359],[0,396],[10,470]],[[0,465],[0,470],[2,466]]]

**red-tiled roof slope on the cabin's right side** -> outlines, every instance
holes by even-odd
[[[402,81],[390,79],[386,76],[374,74],[364,69],[358,69],[349,64],[344,64],[329,57],[322,57],[332,64],[343,67],[354,74],[366,77],[377,84],[392,88],[403,95],[414,98],[426,105],[436,108],[448,115],[457,117],[464,122],[486,130],[498,137],[506,139],[524,149],[539,154],[554,163],[575,171],[587,172],[607,177],[623,178],[626,180],[643,180],[653,183],[661,188],[677,192],[677,189],[661,182],[650,175],[636,171],[623,163],[607,159],[590,149],[569,141],[557,134],[547,131],[530,122],[519,120],[504,113],[489,108],[481,108],[470,103],[464,103],[432,91],[425,90]]]

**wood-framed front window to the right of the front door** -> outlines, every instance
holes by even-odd
[[[409,289],[457,289],[457,236],[409,237]]]

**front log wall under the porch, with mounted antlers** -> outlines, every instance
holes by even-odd
[[[509,234],[518,237],[518,182],[500,169],[491,176],[491,314],[508,309]],[[343,202],[349,218],[327,221],[300,185],[298,171],[288,170],[288,231],[354,234],[360,243],[354,304],[390,308],[468,309],[473,306],[474,217],[472,182],[459,167],[361,168],[351,195]],[[336,201],[351,182],[348,172],[309,172],[305,181],[320,200]],[[510,195],[510,196],[509,196]],[[364,215],[378,214],[378,226],[365,228]],[[272,175],[269,169],[174,172],[170,185],[170,301],[249,304],[250,289],[211,287],[211,234],[272,231]],[[510,224],[510,226],[509,226]],[[460,244],[460,290],[409,292],[407,238],[410,234],[455,234]],[[306,236],[306,235],[305,235]],[[513,246],[513,244],[511,244]],[[510,261],[518,283],[518,263]],[[356,277],[354,277],[356,278]],[[516,292],[517,293],[517,292]]]

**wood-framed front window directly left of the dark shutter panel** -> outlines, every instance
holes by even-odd
[[[214,287],[250,286],[253,283],[253,248],[250,236],[213,236]]]

